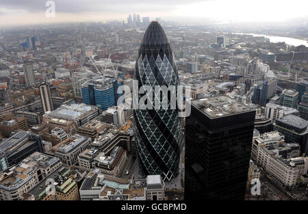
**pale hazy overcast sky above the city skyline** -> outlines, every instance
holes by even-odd
[[[71,21],[126,21],[128,14],[162,18],[223,19],[225,21],[286,21],[308,16],[307,0],[54,0],[55,17],[48,18],[45,0],[0,0],[0,26]]]

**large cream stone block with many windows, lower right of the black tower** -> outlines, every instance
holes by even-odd
[[[300,146],[287,144],[278,131],[253,138],[251,157],[272,180],[283,187],[294,187],[303,174],[307,174],[308,159],[299,157]]]

